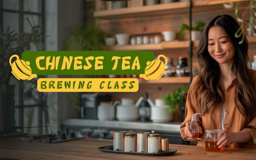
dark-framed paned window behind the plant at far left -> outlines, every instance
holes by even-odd
[[[8,26],[16,33],[30,32],[31,26],[27,18],[32,25],[40,23],[44,26],[44,0],[0,0],[1,32]],[[44,35],[43,28],[41,34]],[[31,44],[30,51],[36,51],[36,46]],[[16,126],[43,125],[43,107],[40,107],[43,106],[41,103],[43,93],[38,92],[36,88],[31,89],[33,85],[28,81],[19,83],[15,77],[11,78],[10,85],[15,85]],[[42,133],[42,128],[24,129],[23,132]]]

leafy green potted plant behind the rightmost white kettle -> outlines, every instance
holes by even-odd
[[[170,106],[169,112],[174,113],[174,121],[181,121],[185,119],[185,102],[187,96],[187,85],[179,88],[170,89],[171,94],[163,95],[166,104]]]

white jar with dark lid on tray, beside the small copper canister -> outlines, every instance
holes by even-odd
[[[158,153],[161,149],[161,136],[159,134],[148,135],[148,153]]]

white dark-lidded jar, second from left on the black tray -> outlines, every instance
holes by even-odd
[[[124,151],[125,152],[136,152],[137,136],[136,133],[125,133],[124,136]]]

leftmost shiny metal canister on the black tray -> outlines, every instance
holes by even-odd
[[[124,151],[124,136],[126,131],[116,131],[113,132],[113,150],[114,151]]]

